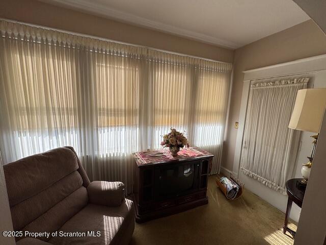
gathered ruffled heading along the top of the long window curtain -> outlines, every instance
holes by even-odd
[[[122,44],[114,41],[85,37],[64,31],[35,27],[29,24],[0,20],[2,36],[21,39],[25,41],[44,42],[68,48],[85,48],[92,52],[103,52],[121,56],[136,56],[149,61],[172,63],[179,65],[194,65],[197,68],[211,69],[219,72],[230,72],[231,63],[210,61],[181,54],[171,54],[164,51],[153,50],[148,47]]]

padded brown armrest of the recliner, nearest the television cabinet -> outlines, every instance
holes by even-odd
[[[87,186],[90,203],[120,206],[124,200],[124,184],[119,181],[93,181]]]

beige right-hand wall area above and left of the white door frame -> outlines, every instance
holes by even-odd
[[[235,50],[228,132],[222,165],[232,171],[244,70],[326,54],[326,37],[312,20],[297,24]]]

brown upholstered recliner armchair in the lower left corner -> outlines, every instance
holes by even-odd
[[[73,148],[20,159],[4,172],[17,245],[129,243],[134,209],[124,184],[90,182]]]

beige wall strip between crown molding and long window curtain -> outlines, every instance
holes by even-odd
[[[233,51],[35,0],[2,0],[0,17],[117,41],[232,62]]]

